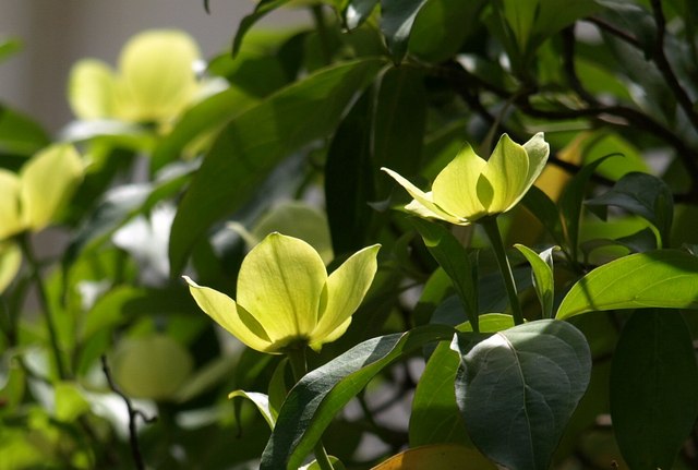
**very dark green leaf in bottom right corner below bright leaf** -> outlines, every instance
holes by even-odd
[[[611,370],[611,418],[629,468],[671,469],[698,418],[698,366],[679,312],[639,310]]]

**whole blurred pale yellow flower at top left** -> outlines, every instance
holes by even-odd
[[[198,47],[183,32],[137,34],[121,50],[118,72],[95,59],[73,67],[69,83],[73,112],[83,120],[171,121],[198,91],[193,68],[198,58]]]

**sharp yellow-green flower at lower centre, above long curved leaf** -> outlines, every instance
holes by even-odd
[[[184,279],[198,306],[250,348],[282,353],[309,345],[318,350],[349,327],[375,276],[378,249],[360,250],[328,276],[310,244],[274,232],[243,260],[237,301]]]

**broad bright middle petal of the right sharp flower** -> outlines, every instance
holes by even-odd
[[[474,220],[485,214],[478,198],[478,178],[486,161],[469,144],[458,152],[434,180],[434,202],[444,210],[461,219]]]

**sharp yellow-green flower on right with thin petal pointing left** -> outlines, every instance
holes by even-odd
[[[414,200],[405,206],[420,217],[467,226],[485,216],[512,209],[524,197],[547,161],[550,146],[538,133],[519,145],[502,135],[492,156],[484,160],[468,144],[422,192],[395,171],[382,168]]]

